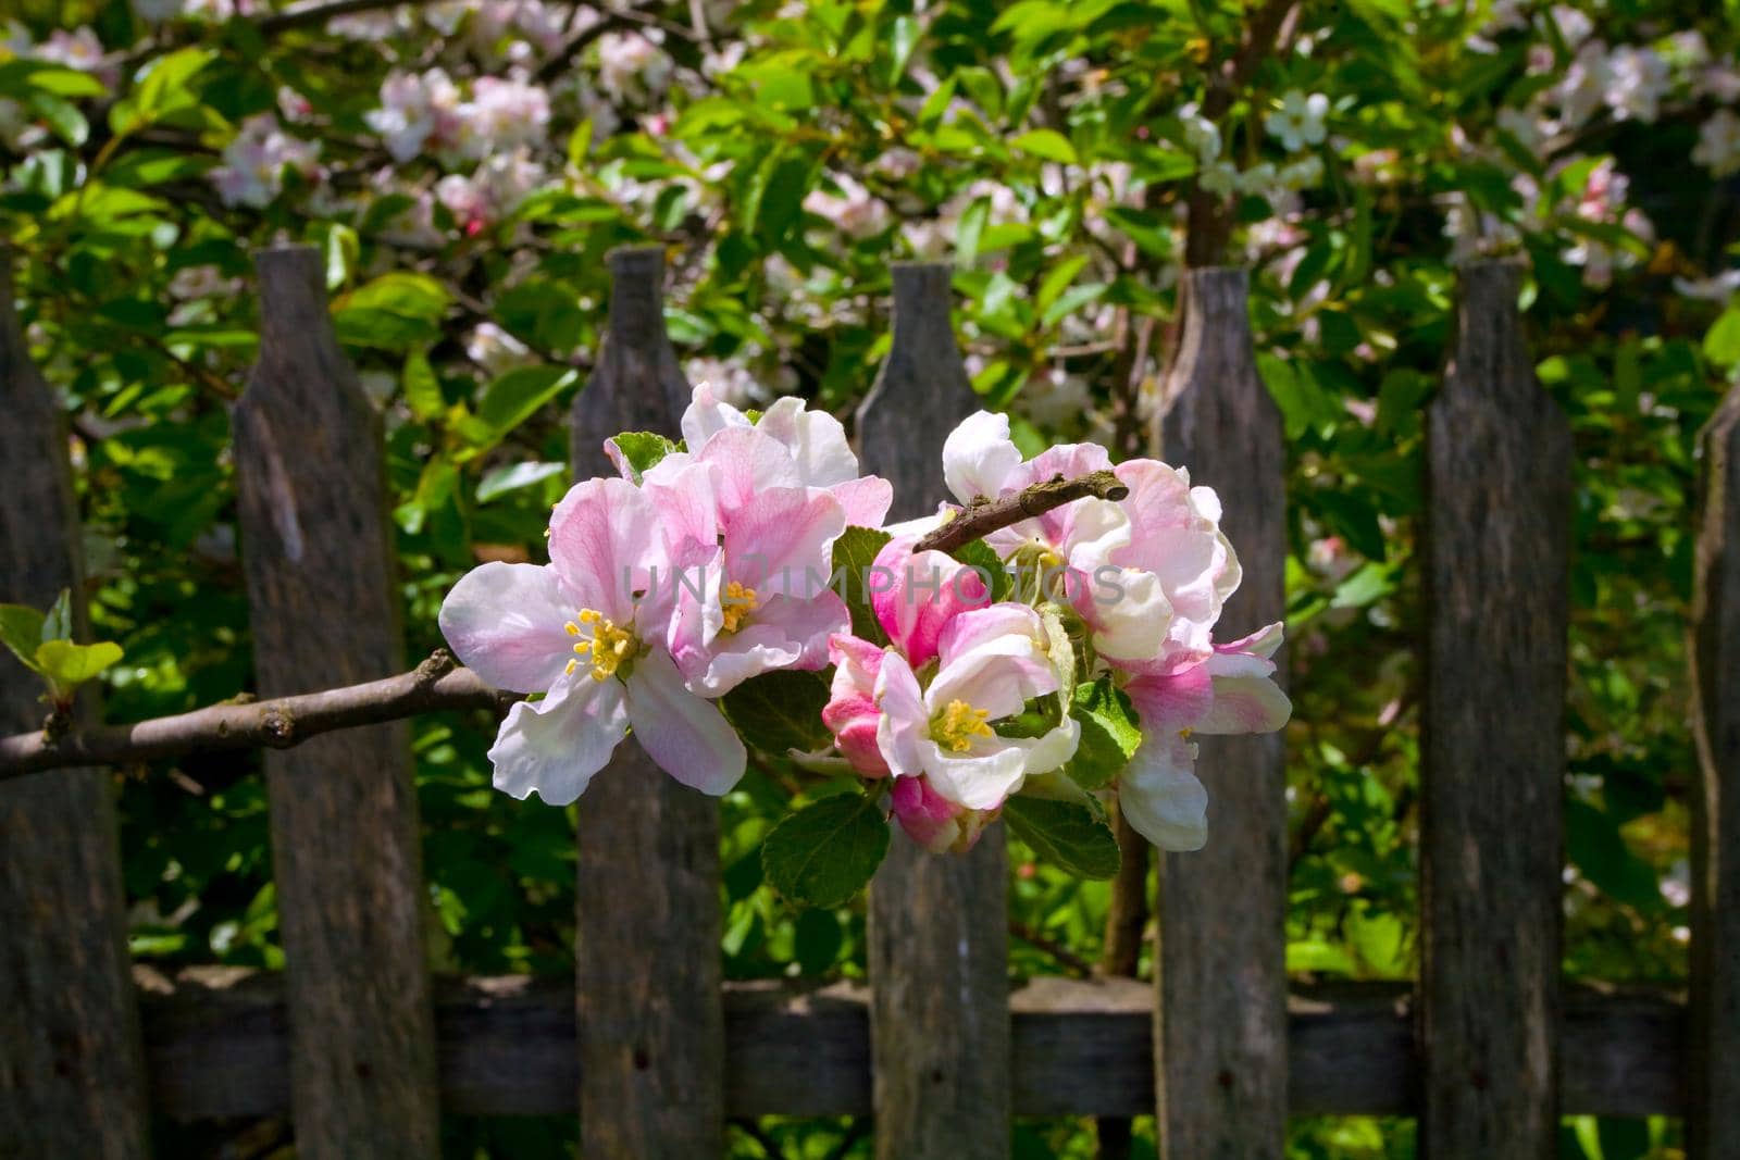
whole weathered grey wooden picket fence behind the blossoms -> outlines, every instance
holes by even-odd
[[[3,263],[0,266],[9,266]],[[618,430],[675,433],[687,384],[658,250],[611,257],[609,337],[574,407],[579,475]],[[404,664],[379,417],[308,249],[259,256],[259,363],[235,409],[261,694]],[[1517,271],[1477,264],[1427,410],[1422,976],[1289,984],[1284,750],[1202,739],[1213,840],[1162,859],[1155,983],[1007,984],[1006,852],[894,842],[870,896],[870,986],[724,983],[717,803],[625,744],[579,809],[574,979],[432,979],[407,730],[266,753],[282,976],[130,967],[113,786],[0,783],[0,1157],[143,1157],[151,1115],[291,1115],[298,1155],[435,1157],[438,1111],[579,1113],[583,1155],[708,1157],[727,1117],[875,1115],[886,1160],[990,1160],[1011,1117],[1159,1113],[1169,1158],[1279,1157],[1288,1115],[1420,1118],[1434,1158],[1557,1155],[1561,1113],[1684,1115],[1740,1139],[1740,402],[1705,437],[1693,640],[1702,776],[1693,977],[1561,986],[1571,450],[1521,337]],[[1162,431],[1225,499],[1244,560],[1230,633],[1281,619],[1282,428],[1246,275],[1183,277]],[[976,407],[950,273],[893,270],[894,334],[858,416],[894,517],[941,497]],[[0,600],[80,590],[54,397],[0,275]],[[0,727],[37,723],[0,661]],[[1730,1143],[1724,1143],[1730,1141]]]

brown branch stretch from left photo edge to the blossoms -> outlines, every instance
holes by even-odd
[[[226,701],[132,725],[75,727],[54,739],[45,730],[0,737],[0,781],[45,769],[129,765],[186,753],[287,750],[334,729],[438,710],[503,713],[519,699],[515,692],[484,683],[472,670],[454,668],[452,656],[437,650],[409,673],[345,689]]]

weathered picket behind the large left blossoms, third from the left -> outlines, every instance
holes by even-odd
[[[618,431],[675,437],[689,386],[665,336],[665,259],[611,254],[611,323],[574,403],[574,477],[614,475]],[[715,1157],[724,1148],[719,802],[630,737],[579,802],[581,1155]]]

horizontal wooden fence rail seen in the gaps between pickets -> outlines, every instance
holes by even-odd
[[[172,1120],[284,1115],[284,981],[228,967],[137,967],[151,1103]],[[579,1087],[569,979],[437,979],[442,1106],[572,1115]],[[870,993],[837,983],[727,983],[726,1110],[734,1117],[870,1111]],[[1295,1115],[1415,1115],[1416,1021],[1406,984],[1296,988],[1288,1002]],[[1129,979],[1034,979],[1009,997],[1014,1115],[1145,1115],[1154,995]],[[1665,991],[1564,1000],[1568,1115],[1677,1115],[1684,1003]],[[713,1155],[713,1153],[706,1153]],[[1503,1153],[1495,1153],[1503,1155]]]

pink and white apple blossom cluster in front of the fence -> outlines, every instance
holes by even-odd
[[[484,563],[442,605],[466,664],[539,694],[489,750],[513,797],[572,802],[630,730],[670,776],[726,793],[757,743],[731,694],[795,671],[816,673],[826,744],[771,757],[886,790],[931,850],[971,847],[1014,795],[1088,802],[1112,783],[1143,835],[1185,850],[1206,840],[1190,737],[1291,713],[1279,624],[1213,640],[1239,562],[1215,492],[1181,470],[1114,466],[1093,443],[1023,459],[1007,419],[980,412],[943,450],[959,503],[884,527],[893,489],[799,398],[755,416],[701,384],[682,437],[609,440],[619,478],[557,504],[550,563]],[[980,555],[920,544],[985,501],[1094,471],[1122,497],[988,529]],[[835,558],[849,529],[877,548],[863,576]],[[1110,770],[1079,769],[1093,690],[1140,729]]]

